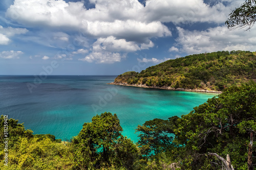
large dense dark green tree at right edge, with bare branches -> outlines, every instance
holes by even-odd
[[[222,94],[194,108],[189,114],[177,120],[175,129],[178,144],[184,147],[185,168],[218,169],[223,159],[230,155],[231,162],[237,169],[247,169],[247,144],[250,134],[256,132],[256,84],[232,86]],[[252,143],[252,142],[251,142]],[[253,145],[251,144],[251,147]],[[252,148],[252,151],[254,148]],[[207,156],[215,153],[219,159]],[[193,159],[191,159],[191,157]],[[255,162],[255,159],[251,162]],[[248,161],[249,162],[249,161]]]

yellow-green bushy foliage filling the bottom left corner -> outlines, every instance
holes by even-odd
[[[4,134],[5,127],[8,127],[8,134]],[[1,163],[0,169],[71,169],[72,150],[54,135],[33,135],[33,131],[26,130],[18,120],[3,115],[0,131],[3,132],[0,133],[0,159],[4,160],[8,153],[8,166]]]

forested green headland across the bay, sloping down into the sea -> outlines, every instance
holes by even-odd
[[[142,70],[124,72],[114,83],[148,87],[222,91],[256,80],[256,53],[222,51],[168,60]]]

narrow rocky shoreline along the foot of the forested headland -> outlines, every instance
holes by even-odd
[[[165,89],[165,90],[174,90],[174,91],[188,91],[188,92],[203,92],[203,93],[217,93],[221,94],[222,91],[210,91],[210,90],[196,90],[196,89],[184,89],[184,88],[172,88],[172,87],[148,87],[146,85],[139,85],[139,84],[127,84],[127,83],[107,83],[112,85],[119,85],[119,86],[132,86],[132,87],[143,87],[143,88],[155,88],[155,89]]]

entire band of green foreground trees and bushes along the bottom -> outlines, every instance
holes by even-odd
[[[7,122],[7,123],[5,123]],[[0,119],[0,159],[6,154],[4,127],[8,125],[8,167],[0,169],[234,169],[256,162],[256,142],[248,154],[250,134],[256,134],[256,83],[226,88],[222,94],[181,117],[148,120],[138,125],[139,140],[122,135],[116,114],[102,113],[84,123],[69,142],[53,135],[33,135],[18,120]]]

